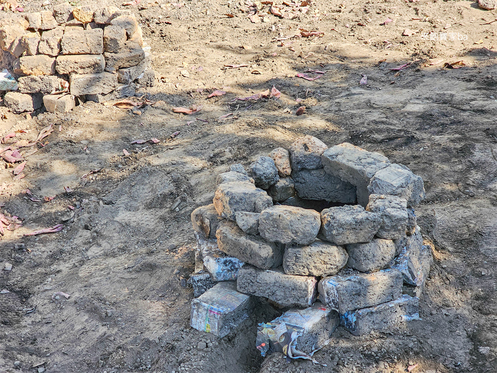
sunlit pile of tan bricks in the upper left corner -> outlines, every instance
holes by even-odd
[[[131,96],[136,85],[154,84],[150,47],[135,16],[112,6],[64,2],[52,11],[3,18],[0,48],[1,70],[18,82],[4,101],[17,113],[43,104],[66,112],[84,100]]]

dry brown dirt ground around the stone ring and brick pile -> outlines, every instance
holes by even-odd
[[[40,10],[41,2],[21,1],[25,11]],[[49,124],[55,129],[27,157],[25,178],[13,180],[2,161],[2,210],[24,225],[0,241],[0,266],[13,265],[0,271],[0,289],[10,291],[0,294],[0,372],[17,372],[16,361],[23,372],[44,363],[49,373],[397,373],[415,364],[413,373],[496,372],[497,22],[489,22],[497,10],[473,1],[316,0],[295,19],[267,15],[251,23],[241,4],[127,6],[156,70],[156,85],[138,96],[157,103],[140,113],[86,102],[64,115],[26,118],[0,107],[2,135],[26,131],[13,141],[34,140]],[[387,18],[393,22],[381,25]],[[324,36],[284,46],[275,40],[299,27]],[[402,36],[406,29],[418,32]],[[423,39],[429,32],[467,40]],[[460,69],[443,68],[461,60]],[[229,64],[247,67],[224,70]],[[295,77],[307,69],[326,74]],[[360,86],[362,74],[367,85]],[[273,86],[279,99],[230,103]],[[207,98],[214,89],[227,93]],[[194,104],[203,108],[172,112]],[[306,113],[296,116],[299,106]],[[422,320],[401,335],[353,337],[338,328],[315,355],[328,367],[258,355],[256,322],[275,315],[267,305],[220,340],[188,326],[191,211],[210,202],[216,175],[230,164],[247,166],[303,134],[381,152],[422,176],[418,224],[435,256]],[[131,144],[153,137],[161,142]],[[32,201],[27,188],[33,199],[55,198]],[[179,210],[171,211],[177,198]],[[56,224],[65,228],[23,236]],[[71,297],[52,300],[58,291]],[[208,347],[199,351],[201,341]]]

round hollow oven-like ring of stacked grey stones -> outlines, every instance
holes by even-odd
[[[338,318],[363,335],[418,317],[433,259],[414,214],[423,181],[407,167],[348,143],[328,148],[305,136],[258,158],[248,172],[231,166],[217,184],[213,204],[192,213],[199,252],[193,276],[211,275],[198,291],[203,297],[216,298],[219,274],[229,274],[224,280],[236,280],[239,293],[288,310],[283,319],[314,307],[306,312],[326,316],[321,333],[328,338]],[[206,265],[214,257],[215,271]],[[281,322],[259,332],[270,339],[268,329]],[[312,340],[323,338],[309,328]]]

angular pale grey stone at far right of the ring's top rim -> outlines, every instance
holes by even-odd
[[[406,166],[397,164],[376,172],[368,190],[371,194],[390,194],[406,198],[408,206],[415,206],[425,197],[423,179],[414,175]]]

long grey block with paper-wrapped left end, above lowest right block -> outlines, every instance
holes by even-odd
[[[372,274],[332,276],[318,284],[319,298],[343,314],[358,308],[376,306],[402,295],[402,275],[397,270]]]

